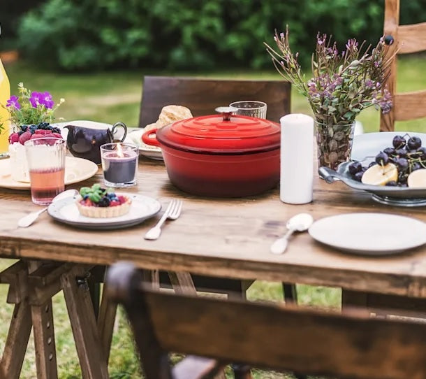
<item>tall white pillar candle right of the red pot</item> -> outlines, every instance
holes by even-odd
[[[284,203],[312,201],[314,183],[314,119],[292,113],[281,117],[281,177]]]

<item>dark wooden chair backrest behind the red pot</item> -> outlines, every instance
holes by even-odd
[[[218,106],[238,100],[267,103],[267,119],[279,122],[290,113],[291,84],[284,80],[219,80],[145,76],[139,127],[156,122],[161,108],[170,104],[186,106],[197,116],[214,115]]]

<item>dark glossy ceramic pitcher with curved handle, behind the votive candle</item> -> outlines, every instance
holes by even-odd
[[[124,129],[124,134],[120,140],[120,142],[123,142],[127,135],[127,127],[123,122],[116,122],[111,129],[96,122],[87,122],[84,127],[66,125],[68,129],[66,138],[68,150],[74,157],[89,159],[91,162],[100,164],[101,145],[115,141],[114,134],[118,127]]]

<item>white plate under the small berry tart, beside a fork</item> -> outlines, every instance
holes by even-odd
[[[140,194],[124,194],[132,203],[126,215],[119,217],[95,218],[80,215],[75,200],[78,196],[68,197],[51,203],[47,213],[54,220],[83,229],[120,229],[140,224],[161,210],[161,203],[152,197]]]

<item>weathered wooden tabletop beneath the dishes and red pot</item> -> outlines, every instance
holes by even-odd
[[[101,180],[99,170],[94,178],[70,187]],[[426,298],[426,246],[389,257],[358,257],[316,243],[304,233],[293,237],[286,254],[269,253],[295,213],[309,212],[316,220],[350,212],[397,213],[426,221],[424,208],[384,206],[365,192],[343,183],[329,185],[317,176],[314,201],[304,205],[282,203],[278,190],[244,199],[200,198],[177,190],[162,162],[142,157],[138,185],[126,191],[152,196],[163,205],[172,197],[184,199],[184,210],[157,241],[145,241],[143,235],[158,217],[128,229],[89,231],[54,222],[44,213],[31,227],[20,229],[17,220],[39,207],[31,203],[29,192],[0,189],[0,256],[103,265],[127,260],[145,269]]]

